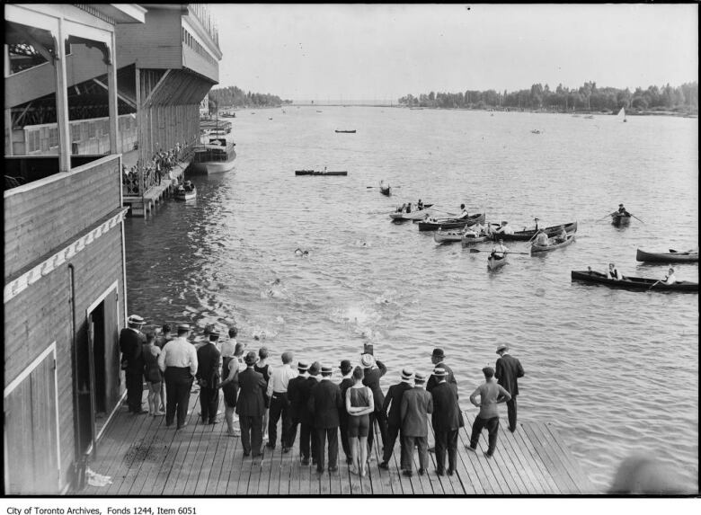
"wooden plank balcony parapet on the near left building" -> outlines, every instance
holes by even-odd
[[[83,171],[57,174],[60,177],[55,180],[27,190],[5,191],[5,283],[95,220],[120,208],[119,164],[115,155],[102,163],[87,164]]]

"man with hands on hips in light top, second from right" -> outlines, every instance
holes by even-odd
[[[480,409],[480,413],[475,417],[475,422],[472,424],[470,445],[466,446],[466,449],[475,452],[477,443],[480,440],[480,433],[484,428],[487,428],[487,431],[489,431],[489,448],[484,453],[484,456],[492,457],[499,432],[499,410],[497,409],[497,404],[510,400],[511,394],[503,386],[494,382],[494,369],[492,367],[484,367],[482,372],[485,379],[484,383],[477,386],[477,389],[470,395],[470,402]],[[479,403],[476,401],[477,395],[480,397]]]

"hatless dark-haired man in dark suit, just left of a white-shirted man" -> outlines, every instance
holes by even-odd
[[[254,351],[246,354],[244,362],[246,369],[238,375],[241,390],[236,401],[236,413],[241,424],[244,457],[253,455],[255,459],[261,455],[262,417],[265,413],[265,392],[268,384],[260,372],[253,370],[253,365],[258,362]]]

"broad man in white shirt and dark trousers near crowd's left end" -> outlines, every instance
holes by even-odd
[[[178,325],[178,337],[167,342],[163,351],[158,355],[158,368],[165,377],[165,425],[173,425],[177,411],[178,430],[187,425],[185,417],[188,414],[192,380],[197,373],[197,351],[188,342],[190,325]]]

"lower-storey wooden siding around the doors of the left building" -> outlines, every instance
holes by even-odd
[[[123,298],[121,242],[121,226],[118,225],[4,305],[5,386],[27,368],[48,342],[56,340],[58,432],[61,448],[59,482],[62,488],[72,480],[70,470],[75,460],[73,338],[68,264],[75,267],[75,330],[78,334],[83,334],[87,331],[85,310],[115,280],[118,282],[120,299]],[[121,300],[119,306],[122,306]],[[123,319],[124,314],[120,311],[116,321],[118,326],[112,334],[120,329]],[[116,345],[118,342],[106,343],[105,353],[114,354]],[[112,380],[116,379],[112,377]],[[108,406],[108,411],[113,407]]]

